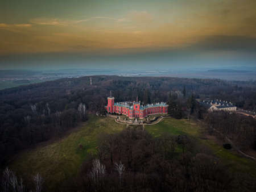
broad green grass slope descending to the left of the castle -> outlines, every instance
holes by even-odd
[[[126,126],[115,123],[112,118],[90,117],[88,122],[82,123],[63,139],[23,151],[15,158],[10,168],[22,174],[24,178],[41,173],[49,187],[48,190],[54,191],[61,181],[76,176],[77,170],[89,153],[96,152],[97,136],[100,133],[114,133],[124,127]]]

